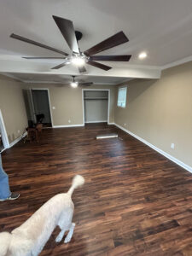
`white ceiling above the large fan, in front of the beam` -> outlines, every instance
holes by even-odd
[[[0,0],[0,55],[59,56],[9,38],[12,32],[70,52],[52,15],[73,20],[83,32],[82,51],[123,30],[130,42],[103,55],[132,54],[129,64],[143,66],[164,66],[192,55],[191,0]],[[141,61],[137,55],[143,50],[148,58]]]

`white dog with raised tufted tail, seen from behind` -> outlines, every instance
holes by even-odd
[[[69,242],[75,227],[72,223],[74,205],[71,196],[73,190],[83,184],[84,177],[76,175],[67,193],[49,199],[24,224],[11,233],[0,233],[0,256],[37,256],[57,225],[61,228],[61,232],[55,241],[61,241],[65,232],[69,230],[64,241]]]

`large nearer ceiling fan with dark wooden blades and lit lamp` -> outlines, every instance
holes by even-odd
[[[102,63],[96,61],[129,61],[131,59],[131,55],[96,55],[103,50],[113,48],[118,46],[119,44],[125,44],[129,41],[129,39],[125,36],[124,32],[118,32],[114,34],[112,37],[105,39],[99,44],[91,47],[90,49],[85,50],[82,52],[79,49],[78,41],[82,38],[82,33],[75,31],[73,27],[73,21],[67,20],[58,16],[53,15],[53,19],[55,20],[56,25],[61,31],[63,38],[67,41],[69,48],[72,50],[72,53],[68,55],[66,52],[61,51],[60,49],[55,49],[45,44],[38,43],[28,38],[20,37],[12,33],[10,35],[11,38],[18,39],[20,41],[26,42],[28,44],[34,44],[44,49],[49,49],[55,51],[61,55],[62,57],[23,57],[28,60],[49,60],[49,59],[61,59],[62,62],[60,65],[52,67],[52,69],[59,69],[61,67],[66,66],[67,64],[73,63],[79,67],[79,73],[86,72],[84,64],[89,64],[93,67],[101,68],[102,70],[108,71],[112,67],[104,65]]]

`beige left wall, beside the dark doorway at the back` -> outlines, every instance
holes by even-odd
[[[12,143],[25,130],[27,125],[26,108],[22,95],[22,85],[14,79],[2,75],[0,75],[0,109],[9,143]]]

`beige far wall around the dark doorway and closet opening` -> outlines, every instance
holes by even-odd
[[[28,88],[49,88],[51,112],[54,125],[82,125],[83,101],[82,88],[72,88],[62,84],[26,84]],[[84,87],[85,89],[85,87]],[[114,89],[113,85],[95,85],[86,89],[110,89],[109,122],[114,121]],[[53,109],[55,107],[55,109]],[[71,123],[68,122],[71,120]]]

